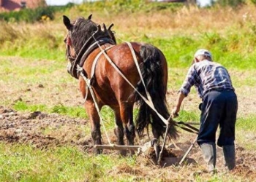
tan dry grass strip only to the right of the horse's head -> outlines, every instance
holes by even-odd
[[[87,17],[88,15],[83,15]],[[72,18],[76,18],[75,15]],[[148,14],[120,13],[118,17],[94,15],[98,23],[114,23],[119,32],[156,32],[159,36],[170,36],[173,33],[198,33],[208,31],[227,31],[230,27],[242,27],[246,21],[255,22],[255,6],[244,6],[239,9],[216,8],[199,9],[183,7],[177,12],[153,12]]]

